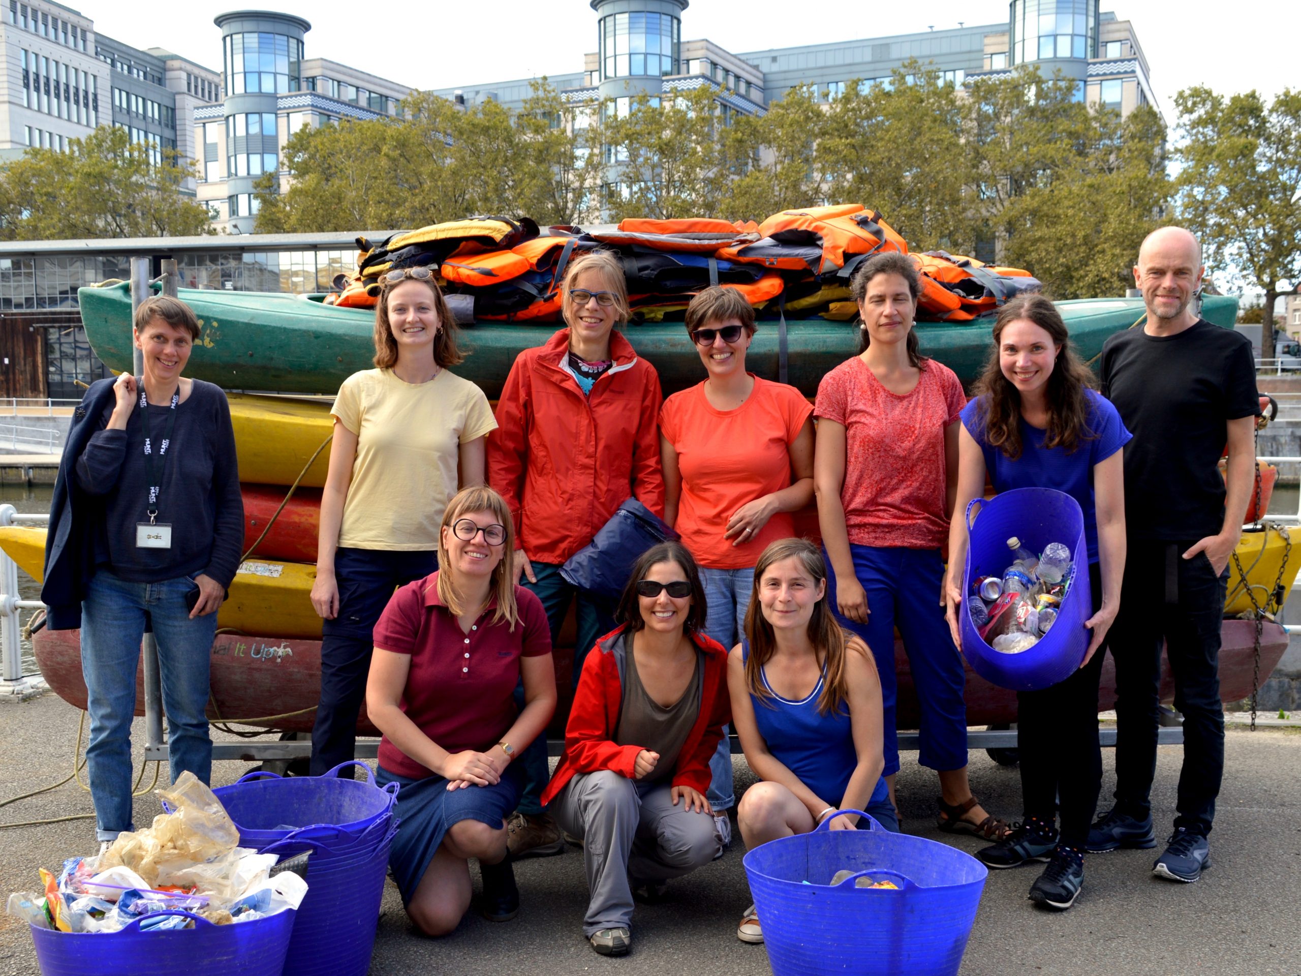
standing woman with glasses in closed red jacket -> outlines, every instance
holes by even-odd
[[[506,377],[500,427],[488,439],[488,471],[516,519],[515,578],[543,601],[553,642],[578,601],[576,686],[587,652],[614,627],[614,608],[571,586],[561,565],[630,497],[664,511],[656,429],[661,394],[654,367],[614,328],[628,318],[618,258],[576,256],[561,294],[566,327],[520,353]],[[519,816],[511,820],[511,854],[561,854],[565,839],[540,799],[545,744],[520,759],[530,776]]]

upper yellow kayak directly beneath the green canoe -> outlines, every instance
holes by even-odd
[[[235,431],[241,481],[293,484],[334,428],[329,403],[325,402],[248,393],[228,393],[226,400]],[[316,454],[299,484],[304,488],[324,487],[328,468],[329,445]]]

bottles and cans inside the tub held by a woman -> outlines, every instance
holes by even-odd
[[[1011,563],[1003,575],[974,579],[967,606],[985,643],[1000,653],[1019,655],[1053,627],[1075,578],[1075,563],[1063,543],[1049,543],[1036,556],[1012,536],[1007,548]]]

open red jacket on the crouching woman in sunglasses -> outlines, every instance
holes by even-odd
[[[611,630],[596,642],[583,662],[583,675],[565,726],[565,751],[543,791],[544,806],[556,799],[575,773],[611,769],[632,778],[632,765],[643,747],[619,746],[613,740],[623,707],[623,673],[632,649],[630,636],[623,626]],[[709,760],[723,738],[723,726],[731,721],[731,699],[727,698],[727,652],[704,634],[690,636],[705,653],[704,685],[700,714],[682,743],[671,785],[690,786],[703,794],[709,789]]]

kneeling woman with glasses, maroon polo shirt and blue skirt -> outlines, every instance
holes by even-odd
[[[438,569],[393,593],[375,626],[366,708],[384,733],[376,781],[399,785],[389,867],[427,936],[448,934],[470,907],[468,858],[479,859],[484,917],[519,911],[506,817],[523,776],[511,760],[544,735],[556,673],[543,605],[511,579],[513,540],[502,497],[463,488],[442,515]]]

